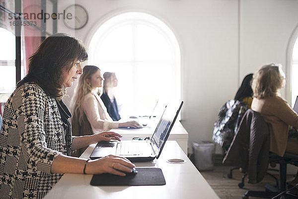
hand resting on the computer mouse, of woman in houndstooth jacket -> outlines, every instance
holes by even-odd
[[[108,155],[106,157],[89,161],[86,165],[86,174],[110,173],[118,176],[125,176],[125,173],[132,172],[135,165],[126,158]],[[123,172],[121,172],[123,171]]]

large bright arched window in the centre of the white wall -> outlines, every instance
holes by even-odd
[[[156,101],[180,99],[180,49],[160,19],[127,12],[104,22],[89,44],[89,65],[116,72],[121,114],[150,114]]]

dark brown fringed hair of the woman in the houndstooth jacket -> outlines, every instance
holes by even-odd
[[[76,61],[87,59],[86,48],[80,40],[63,33],[54,34],[46,38],[29,57],[28,74],[18,82],[17,87],[34,82],[47,95],[62,99],[66,95],[66,88],[62,85],[63,71],[70,71]]]

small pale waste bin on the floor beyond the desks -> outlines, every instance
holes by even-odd
[[[195,165],[199,171],[213,170],[215,143],[212,141],[193,142]]]

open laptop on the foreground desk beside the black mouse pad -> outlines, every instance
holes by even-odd
[[[157,159],[181,110],[183,101],[165,106],[163,114],[149,140],[100,141],[90,155],[97,159],[107,155],[125,157],[132,162],[148,162]]]

